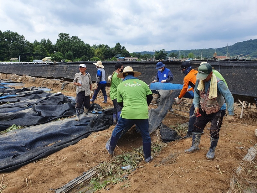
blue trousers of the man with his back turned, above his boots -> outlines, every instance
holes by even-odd
[[[117,125],[112,131],[112,136],[115,138],[119,138],[123,129],[129,127],[131,128],[134,124],[136,124],[141,131],[141,135],[143,138],[143,143],[151,142],[151,137],[149,134],[149,122],[148,119],[125,119],[120,117]]]

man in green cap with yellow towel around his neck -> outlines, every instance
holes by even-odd
[[[227,109],[227,121],[234,120],[234,98],[227,85],[213,74],[209,63],[199,66],[194,89],[194,106],[196,121],[192,131],[192,146],[185,153],[199,151],[201,132],[210,121],[210,148],[206,158],[214,158],[215,148],[219,140],[220,127]],[[226,106],[227,104],[227,106]]]

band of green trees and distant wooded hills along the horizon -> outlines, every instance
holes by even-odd
[[[208,48],[197,50],[172,50],[164,49],[155,52],[133,52],[129,53],[125,46],[120,43],[111,48],[108,45],[89,45],[77,36],[67,33],[59,33],[56,44],[49,39],[35,40],[33,43],[25,39],[24,35],[17,32],[0,31],[0,61],[10,61],[11,58],[19,58],[21,62],[32,62],[34,59],[51,57],[52,61],[113,61],[117,57],[137,57],[138,59],[148,60],[155,57],[156,60],[165,58],[211,58],[214,52],[218,56],[226,56],[228,49],[229,55],[249,54],[250,57],[257,57],[257,39],[238,42],[232,46],[222,48]]]

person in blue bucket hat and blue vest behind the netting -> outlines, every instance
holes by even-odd
[[[171,70],[168,68],[165,68],[164,66],[165,66],[165,64],[163,64],[162,62],[158,62],[156,64],[155,69],[158,69],[158,71],[157,71],[155,79],[152,83],[154,83],[154,82],[169,83],[173,80],[173,74],[171,73]]]

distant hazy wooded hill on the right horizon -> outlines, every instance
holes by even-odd
[[[227,46],[222,47],[222,48],[208,48],[208,49],[196,49],[196,50],[181,50],[180,54],[183,56],[187,56],[190,52],[194,53],[195,57],[199,56],[201,57],[202,52],[203,52],[203,58],[212,58],[213,54],[217,53],[218,56],[226,56],[227,53]],[[179,55],[179,50],[171,50],[167,51],[168,55],[173,52],[177,55]],[[153,52],[136,52],[136,53],[141,53],[141,55],[144,54],[153,54]],[[234,45],[229,45],[228,46],[228,53],[229,56],[236,56],[243,54],[248,55],[252,58],[257,57],[257,39],[250,39],[244,42],[237,42]]]

